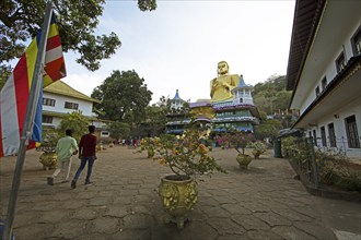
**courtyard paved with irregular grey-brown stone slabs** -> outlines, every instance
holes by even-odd
[[[135,149],[115,146],[98,153],[92,185],[48,185],[53,170],[43,170],[30,151],[23,169],[13,232],[32,239],[153,240],[361,240],[361,204],[316,197],[295,180],[287,159],[271,152],[241,170],[236,152],[216,148],[211,155],[229,173],[202,177],[191,220],[179,230],[165,224],[158,184],[170,170]],[[0,159],[0,218],[7,215],[15,157]],[[79,166],[73,159],[72,175]],[[60,180],[59,180],[60,181]]]

